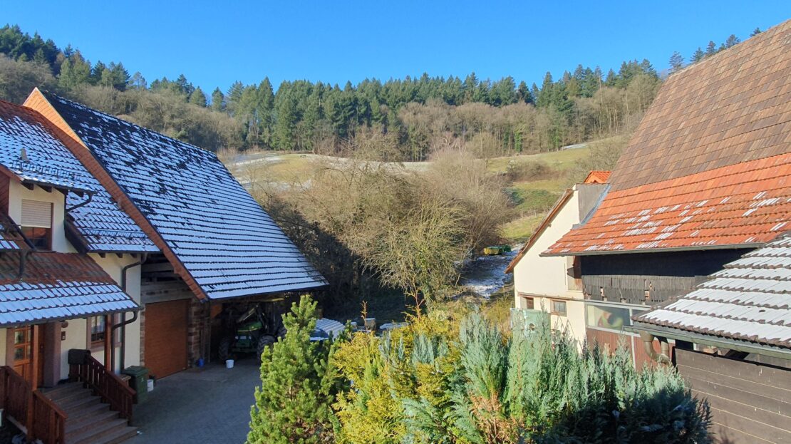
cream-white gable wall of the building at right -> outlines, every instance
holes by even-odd
[[[579,222],[575,187],[568,201],[513,268],[513,283],[514,306],[517,308],[527,308],[526,297],[533,298],[535,309],[547,313],[551,313],[553,300],[566,302],[566,316],[552,313],[551,327],[568,332],[581,346],[585,341],[585,302],[582,291],[574,290],[573,280],[568,277],[571,260],[564,256],[539,256]]]

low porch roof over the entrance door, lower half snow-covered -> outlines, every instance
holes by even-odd
[[[134,310],[138,305],[89,256],[0,253],[0,325],[30,324]]]

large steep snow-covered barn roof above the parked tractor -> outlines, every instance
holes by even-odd
[[[44,96],[153,227],[149,236],[164,241],[188,284],[194,280],[209,298],[325,285],[216,155],[54,94]]]

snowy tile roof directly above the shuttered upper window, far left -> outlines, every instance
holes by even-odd
[[[52,134],[44,116],[0,101],[0,165],[28,184],[95,192],[98,183]]]

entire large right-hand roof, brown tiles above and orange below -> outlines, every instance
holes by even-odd
[[[544,254],[771,241],[791,222],[791,21],[664,83],[611,192]]]

